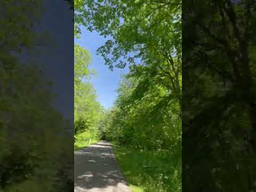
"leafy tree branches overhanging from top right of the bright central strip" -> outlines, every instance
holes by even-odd
[[[98,49],[110,69],[129,63],[141,70],[139,58],[181,109],[181,1],[77,1],[76,6],[77,25],[111,37]]]

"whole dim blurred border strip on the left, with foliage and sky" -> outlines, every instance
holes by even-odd
[[[74,1],[0,15],[0,191],[73,191]]]

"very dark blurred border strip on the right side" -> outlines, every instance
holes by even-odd
[[[256,191],[255,1],[182,9],[182,190]]]

